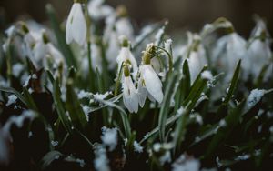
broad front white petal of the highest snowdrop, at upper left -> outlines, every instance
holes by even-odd
[[[79,3],[74,4],[76,7],[72,24],[72,35],[79,45],[84,45],[86,41],[86,18]]]

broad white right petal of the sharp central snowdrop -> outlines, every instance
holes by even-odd
[[[153,96],[158,103],[163,100],[162,83],[151,65],[143,65],[143,79],[147,92]]]

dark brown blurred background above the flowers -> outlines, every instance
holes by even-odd
[[[54,5],[62,20],[68,15],[73,0],[0,0],[1,29],[22,16],[46,22],[47,3]],[[252,16],[257,14],[267,20],[269,32],[273,35],[273,0],[106,0],[106,3],[126,5],[137,25],[168,19],[173,30],[198,31],[205,23],[225,16],[245,37],[254,26]]]

